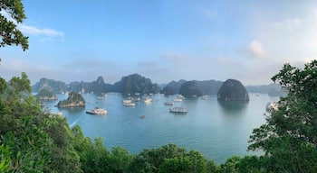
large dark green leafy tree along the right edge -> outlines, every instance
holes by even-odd
[[[288,95],[251,135],[249,150],[264,150],[268,172],[317,170],[317,60],[303,69],[285,64],[272,77]]]

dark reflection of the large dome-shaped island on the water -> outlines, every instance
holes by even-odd
[[[233,101],[233,102],[221,102],[218,101],[219,107],[221,107],[221,112],[226,115],[236,115],[245,112],[249,102],[244,101]]]

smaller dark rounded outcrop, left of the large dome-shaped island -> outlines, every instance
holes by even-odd
[[[193,80],[193,81],[185,82],[179,88],[179,95],[190,98],[190,97],[203,96],[203,93],[199,90],[199,87],[197,85],[197,81]]]

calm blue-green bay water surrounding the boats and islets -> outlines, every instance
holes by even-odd
[[[255,154],[246,151],[249,136],[255,127],[265,122],[265,105],[277,97],[250,94],[248,103],[220,104],[216,96],[185,99],[174,106],[187,107],[187,114],[171,114],[171,106],[164,105],[175,96],[151,96],[153,102],[143,99],[135,107],[122,105],[123,97],[108,94],[103,100],[95,95],[82,95],[88,103],[85,108],[59,109],[47,102],[52,113],[62,112],[68,123],[79,124],[86,136],[102,137],[108,149],[121,146],[130,153],[175,143],[187,150],[199,150],[207,159],[223,163],[238,155]],[[59,100],[65,99],[59,95]],[[94,107],[108,110],[107,115],[91,115],[85,112]],[[145,115],[145,118],[140,118]]]

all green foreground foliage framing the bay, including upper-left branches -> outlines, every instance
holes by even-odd
[[[25,18],[21,0],[3,0],[0,10],[19,23]],[[27,39],[2,14],[0,32],[1,46],[14,43],[27,49]],[[71,129],[65,118],[43,111],[25,73],[8,82],[0,77],[0,172],[315,172],[317,60],[303,69],[285,64],[272,79],[288,94],[250,137],[249,150],[263,150],[264,155],[233,156],[216,165],[198,151],[174,144],[139,154],[120,147],[107,150],[101,138],[92,141],[80,126]]]

